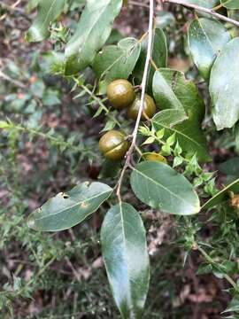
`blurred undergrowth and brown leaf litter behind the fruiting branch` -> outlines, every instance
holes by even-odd
[[[97,143],[105,123],[113,125],[104,112],[93,118],[99,105],[84,86],[94,84],[90,70],[76,89],[50,74],[49,51],[65,41],[84,1],[69,2],[70,13],[52,26],[50,41],[29,44],[24,33],[35,3],[0,2],[0,121],[10,123],[0,130],[0,318],[119,318],[100,253],[98,230],[107,204],[73,230],[42,234],[27,228],[27,215],[54,194],[79,181],[107,177]],[[109,43],[143,34],[144,3],[132,2],[122,11]],[[157,23],[166,29],[169,65],[197,80],[187,50],[191,13],[166,9],[158,12]],[[204,83],[198,83],[206,99]],[[208,169],[217,170],[235,156],[235,138],[229,131],[215,133],[209,116],[204,128],[213,156]],[[108,182],[113,184],[111,176]],[[230,299],[228,285],[209,273],[212,267],[197,252],[186,254],[186,244],[200,230],[228,272],[238,273],[238,261],[227,261],[228,252],[238,250],[235,218],[220,209],[185,223],[139,206],[131,193],[127,200],[142,213],[148,230],[151,280],[144,317],[220,318]]]

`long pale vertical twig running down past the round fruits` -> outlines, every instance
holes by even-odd
[[[149,74],[150,58],[151,58],[151,50],[152,50],[152,42],[153,42],[153,14],[154,14],[154,0],[150,0],[150,21],[149,21],[149,28],[148,28],[148,48],[147,48],[147,56],[146,56],[145,66],[144,66],[144,71],[143,71],[143,80],[141,83],[141,88],[142,88],[141,103],[140,103],[140,108],[139,108],[137,120],[135,122],[135,128],[134,128],[134,131],[132,134],[132,143],[127,151],[126,162],[125,162],[124,167],[121,170],[120,179],[119,179],[119,182],[117,185],[116,194],[117,194],[117,197],[118,197],[120,202],[121,202],[121,196],[120,196],[121,185],[123,182],[124,175],[127,171],[127,167],[130,167],[130,161],[131,161],[132,155],[135,151],[138,128],[139,128],[141,116],[143,113],[144,96],[145,96],[147,79],[148,79],[148,74]]]

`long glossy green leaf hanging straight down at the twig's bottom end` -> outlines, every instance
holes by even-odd
[[[140,215],[127,203],[112,206],[101,229],[104,265],[122,318],[141,318],[150,271]]]

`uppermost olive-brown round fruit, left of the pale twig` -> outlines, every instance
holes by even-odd
[[[127,80],[115,80],[107,87],[107,97],[114,108],[122,109],[134,101],[134,87]]]

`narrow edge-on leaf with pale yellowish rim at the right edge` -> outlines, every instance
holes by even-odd
[[[223,201],[226,201],[227,199],[229,199],[229,191],[233,191],[235,193],[239,192],[239,178],[236,179],[233,183],[227,185],[227,187],[219,191],[216,195],[205,202],[204,206],[202,206],[202,209],[209,209],[213,206],[219,205]]]

